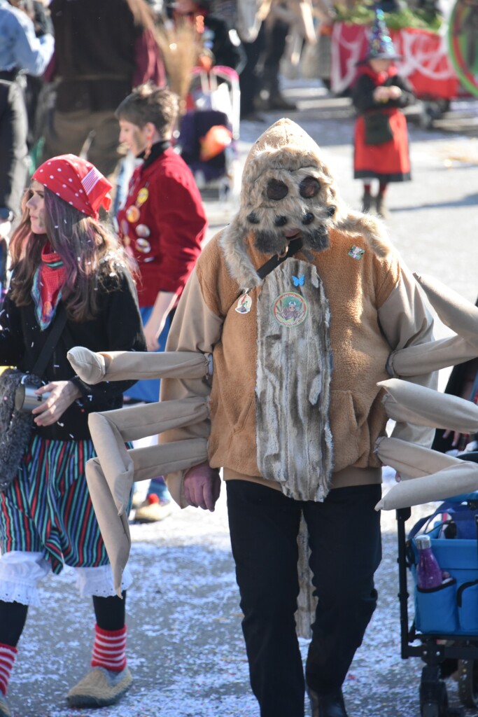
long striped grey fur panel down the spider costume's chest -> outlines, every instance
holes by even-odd
[[[330,487],[329,323],[314,265],[289,259],[267,275],[257,305],[257,464],[296,500],[324,500]]]

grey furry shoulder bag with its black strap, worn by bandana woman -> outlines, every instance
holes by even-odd
[[[42,376],[47,368],[49,357],[57,345],[66,321],[66,310],[60,304],[57,315],[50,324],[47,341],[31,374],[24,374],[18,369],[5,369],[0,374],[0,492],[9,487],[18,473],[32,435],[32,414],[21,410],[25,388],[32,386],[38,389],[42,386],[43,381],[39,376]]]

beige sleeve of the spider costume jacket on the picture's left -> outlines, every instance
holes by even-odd
[[[206,304],[198,275],[194,271],[179,300],[169,331],[166,351],[195,351],[202,355],[211,354],[215,344],[221,338],[222,323],[223,319]],[[203,379],[163,379],[161,381],[161,401],[209,397],[210,393],[211,376]],[[162,433],[158,442],[163,444],[191,438],[207,439],[210,425],[210,420],[207,418],[191,426],[171,429]],[[165,476],[171,495],[182,508],[190,505],[184,494],[183,475],[183,471],[178,471]]]

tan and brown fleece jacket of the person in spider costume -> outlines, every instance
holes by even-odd
[[[167,432],[160,436],[160,442],[207,437],[210,465],[224,467],[226,479],[265,480],[268,485],[297,497],[300,475],[292,476],[290,466],[283,472],[285,475],[279,475],[281,462],[285,460],[283,456],[289,456],[290,452],[300,452],[301,445],[302,450],[305,450],[304,447],[320,441],[320,436],[310,432],[311,427],[316,427],[311,419],[317,407],[320,408],[320,397],[315,403],[312,402],[309,414],[302,420],[297,435],[292,438],[289,427],[279,425],[282,411],[286,419],[290,417],[285,406],[279,405],[275,412],[272,407],[271,425],[279,425],[281,431],[276,463],[274,460],[268,462],[267,455],[264,458],[264,453],[267,454],[268,446],[274,440],[274,436],[270,435],[272,432],[267,423],[264,425],[262,418],[261,430],[258,431],[257,426],[257,418],[262,416],[261,411],[258,412],[258,396],[264,394],[257,378],[258,325],[260,327],[261,322],[267,320],[267,317],[264,319],[260,315],[261,294],[267,288],[269,277],[271,282],[285,282],[283,289],[286,293],[303,293],[304,285],[298,288],[292,285],[292,277],[297,273],[299,277],[307,277],[305,284],[309,285],[307,290],[312,292],[305,299],[307,318],[300,326],[307,325],[308,320],[316,321],[316,324],[312,324],[312,331],[316,331],[325,321],[328,322],[326,341],[333,361],[328,381],[328,426],[325,427],[327,431],[330,429],[331,435],[328,462],[330,475],[322,477],[325,480],[322,488],[315,485],[315,499],[322,500],[330,488],[380,482],[381,463],[374,453],[374,447],[377,438],[385,433],[386,414],[381,404],[383,394],[377,382],[388,378],[386,361],[391,351],[424,343],[432,338],[431,313],[414,277],[391,245],[378,255],[365,237],[353,237],[352,241],[350,235],[335,229],[330,231],[330,245],[327,249],[309,252],[307,256],[298,253],[266,277],[264,285],[252,288],[249,292],[249,312],[239,313],[236,308],[242,290],[229,274],[221,237],[222,232],[219,232],[199,257],[196,270],[176,310],[166,346],[167,351],[212,353],[212,379],[161,381],[162,400],[209,394],[210,417],[193,427]],[[360,258],[356,258],[360,252],[350,252],[353,245],[363,250]],[[252,233],[247,239],[247,253],[256,269],[268,258],[254,247]],[[291,270],[287,268],[288,265]],[[282,274],[277,279],[274,275],[279,271]],[[318,298],[315,302],[314,290],[311,288],[317,282],[314,277],[318,277],[318,284],[325,294],[325,305],[319,306]],[[288,278],[291,279],[290,284],[287,283]],[[317,312],[321,312],[318,318]],[[272,325],[276,326],[273,321]],[[309,353],[314,343],[310,337],[313,338],[315,333],[307,334],[305,346],[308,348],[300,349],[302,353],[296,352],[294,366],[289,366],[287,342],[292,346],[295,342],[293,337],[297,335],[293,332],[300,330],[300,326],[291,328],[277,324],[274,329],[275,333],[279,331],[285,335],[286,348],[282,359],[277,362],[277,375],[282,376],[281,372],[287,366],[287,381],[292,381],[295,374],[298,374],[297,380],[300,382],[302,354]],[[277,337],[274,331],[266,338],[275,341]],[[305,361],[307,356],[303,356],[303,359]],[[420,376],[416,381],[421,385],[436,387],[436,376],[433,374]],[[325,389],[327,386],[324,384],[322,397]],[[272,391],[272,403],[277,398],[280,404],[284,391],[284,383],[277,386],[275,397]],[[289,402],[293,403],[295,394],[285,393]],[[269,395],[269,398],[271,396],[267,392],[265,395]],[[397,424],[393,435],[421,445],[430,445],[432,438],[430,429],[409,424]],[[322,452],[327,452],[326,447]],[[270,455],[271,451],[269,458]],[[317,465],[322,465],[320,461],[324,460],[323,455],[317,460]],[[262,466],[275,465],[277,475],[274,472],[272,475],[264,475],[259,463]],[[290,465],[295,464],[292,462]],[[301,464],[297,465],[302,471]],[[174,474],[168,476],[167,480],[173,496],[178,503],[183,504],[181,478],[181,475]],[[293,488],[295,493],[288,487],[290,480],[297,484]],[[302,494],[300,497],[303,497]],[[305,497],[310,499],[310,495]]]

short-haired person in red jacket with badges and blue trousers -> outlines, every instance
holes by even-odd
[[[165,87],[136,87],[116,116],[123,142],[143,163],[118,212],[120,237],[138,263],[138,298],[148,351],[163,351],[178,298],[201,252],[206,214],[186,162],[171,147],[178,98]],[[155,402],[159,380],[138,381],[125,396]],[[135,519],[154,522],[171,511],[163,478],[151,481]]]

